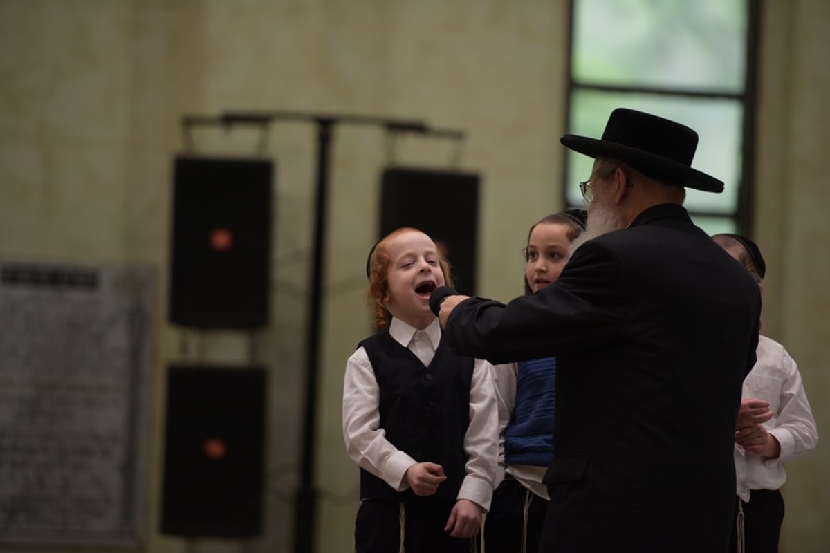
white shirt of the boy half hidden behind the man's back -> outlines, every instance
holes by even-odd
[[[751,490],[777,490],[787,479],[782,461],[803,457],[816,449],[818,433],[801,383],[798,366],[784,346],[761,336],[758,361],[744,380],[742,397],[769,401],[772,419],[764,423],[781,444],[778,458],[746,452],[735,444],[735,475],[738,496],[751,501]]]

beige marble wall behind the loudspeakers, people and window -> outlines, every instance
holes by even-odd
[[[765,324],[799,361],[821,431],[830,424],[822,371],[830,198],[819,167],[830,145],[830,12],[821,0],[764,7],[756,235],[770,265]],[[180,357],[182,339],[164,312],[180,116],[291,109],[465,130],[461,167],[483,177],[479,292],[506,299],[519,293],[526,227],[560,207],[567,24],[564,0],[0,0],[0,257],[159,272],[143,551],[291,551],[299,484],[315,129],[280,123],[265,148],[278,163],[272,323],[251,337],[256,360],[271,369],[266,532],[236,542],[157,531],[165,367]],[[198,153],[254,153],[260,138],[251,129],[193,131]],[[351,540],[357,472],[340,433],[342,371],[370,332],[363,270],[386,146],[378,129],[335,129],[316,429],[319,551],[349,551]],[[446,166],[451,153],[448,143],[407,138],[397,159]],[[203,360],[247,361],[247,337],[185,338]],[[828,459],[820,449],[790,466],[783,551],[823,551]]]

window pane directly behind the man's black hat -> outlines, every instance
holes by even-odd
[[[569,133],[600,138],[613,109],[626,107],[672,119],[695,129],[699,141],[691,166],[724,182],[724,192],[713,194],[686,188],[690,211],[735,212],[740,182],[743,108],[735,99],[574,90]],[[570,205],[580,205],[579,181],[591,174],[593,159],[569,151],[566,193]]]

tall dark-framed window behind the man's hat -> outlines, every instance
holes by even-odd
[[[686,209],[710,234],[751,235],[752,139],[759,0],[571,0],[568,133],[599,138],[627,107],[695,129],[692,167],[725,183],[686,190]],[[565,204],[592,158],[568,150]]]

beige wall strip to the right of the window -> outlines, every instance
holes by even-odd
[[[755,235],[768,257],[764,329],[798,362],[818,424],[815,454],[785,466],[781,551],[830,543],[830,4],[764,2]]]

